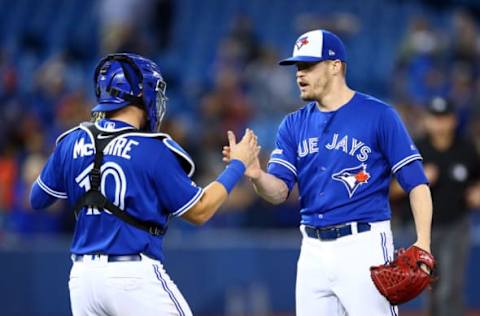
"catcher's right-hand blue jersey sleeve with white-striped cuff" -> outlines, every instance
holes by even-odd
[[[195,205],[203,189],[188,177],[174,154],[163,147],[155,169],[155,183],[159,199],[166,211],[181,216]]]

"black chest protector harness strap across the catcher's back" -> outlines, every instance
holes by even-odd
[[[161,227],[157,223],[147,222],[139,220],[136,217],[128,214],[126,211],[120,209],[118,206],[113,204],[107,199],[105,195],[100,191],[100,182],[102,179],[102,174],[100,167],[103,160],[103,150],[108,145],[113,138],[118,137],[122,134],[131,132],[131,130],[120,130],[114,132],[104,132],[97,129],[95,124],[85,124],[86,127],[92,134],[95,147],[95,161],[93,163],[93,169],[90,172],[90,190],[87,191],[82,197],[80,197],[74,206],[75,216],[78,218],[78,214],[84,207],[96,207],[98,209],[107,209],[113,215],[121,219],[127,224],[130,224],[138,229],[144,230],[153,236],[163,236],[167,227]],[[98,138],[98,135],[102,134],[102,138]]]

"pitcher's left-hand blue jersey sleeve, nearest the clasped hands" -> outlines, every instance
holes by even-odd
[[[297,154],[291,124],[286,117],[278,128],[275,149],[268,161],[268,173],[283,180],[291,191],[297,179]]]

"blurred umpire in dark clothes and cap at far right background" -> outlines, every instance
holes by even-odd
[[[467,192],[479,179],[474,145],[456,134],[457,118],[446,99],[435,97],[425,117],[426,137],[417,142],[433,198],[432,253],[439,280],[433,285],[430,315],[461,316],[464,268],[470,246]]]

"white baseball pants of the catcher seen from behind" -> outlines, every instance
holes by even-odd
[[[108,262],[106,255],[85,255],[70,271],[74,316],[171,315],[192,312],[160,261]]]

